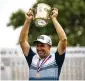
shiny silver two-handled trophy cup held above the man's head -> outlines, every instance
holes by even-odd
[[[34,23],[37,27],[45,27],[50,19],[51,7],[45,3],[39,3],[36,7]]]

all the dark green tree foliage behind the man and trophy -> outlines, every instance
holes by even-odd
[[[37,0],[37,3],[33,5],[33,7],[35,8],[38,3],[47,3],[52,8],[56,7],[59,9],[59,15],[57,19],[67,34],[68,46],[85,46],[84,0]],[[23,25],[25,20],[24,13],[21,14],[21,12],[19,12],[20,11],[11,15],[10,25],[13,25],[14,28]],[[50,35],[53,39],[53,45],[57,45],[58,36],[56,34],[52,21],[49,21],[48,25],[44,28],[36,27],[32,22],[29,34],[30,44],[32,44],[33,40],[36,39],[36,37],[40,34]]]

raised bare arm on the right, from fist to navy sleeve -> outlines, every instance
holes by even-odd
[[[58,16],[58,9],[54,8],[52,11],[51,18],[55,26],[56,32],[59,36],[59,43],[58,43],[57,49],[58,49],[59,55],[62,55],[66,51],[67,37],[63,28],[61,27],[61,25],[59,24],[57,20],[57,16]]]

